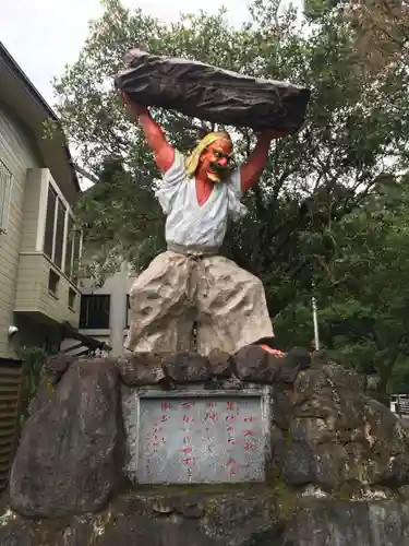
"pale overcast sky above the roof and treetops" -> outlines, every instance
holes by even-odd
[[[142,8],[163,21],[200,9],[215,13],[226,5],[231,22],[240,24],[248,16],[249,1],[123,0],[123,4]],[[76,60],[88,21],[100,13],[99,0],[0,0],[0,40],[51,106],[50,80]]]

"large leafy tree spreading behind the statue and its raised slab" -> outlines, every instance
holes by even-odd
[[[398,260],[382,250],[381,240],[400,245],[404,239],[393,236],[394,215],[371,206],[407,168],[405,67],[387,62],[371,70],[345,5],[336,2],[310,2],[300,22],[292,7],[282,10],[278,0],[255,0],[249,22],[239,28],[222,10],[164,24],[124,9],[119,0],[104,3],[105,13],[92,23],[77,61],[56,82],[63,127],[82,167],[99,180],[77,207],[95,276],[123,259],[143,268],[165,245],[164,218],[153,194],[159,174],[112,88],[130,48],[304,84],[312,90],[305,124],[273,145],[260,185],[246,197],[249,214],[231,226],[224,252],[263,280],[284,344],[310,341],[315,281],[328,344],[346,351],[354,346],[361,364],[374,347],[380,361],[387,359],[385,351],[396,343],[401,347],[402,340],[394,337],[385,314],[371,323],[376,335],[382,324],[377,343],[364,317],[374,319],[393,299],[385,293],[385,301],[372,301],[372,295],[381,297],[383,283],[386,290],[396,289],[389,269]],[[182,151],[209,129],[177,112],[154,110],[154,116]],[[254,136],[246,129],[234,136],[243,161]]]

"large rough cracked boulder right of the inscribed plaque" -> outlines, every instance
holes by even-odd
[[[398,417],[369,399],[359,377],[327,364],[298,373],[292,391],[276,389],[272,458],[292,486],[409,483],[409,446]]]

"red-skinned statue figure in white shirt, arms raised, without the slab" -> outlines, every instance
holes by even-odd
[[[242,195],[257,181],[273,139],[263,132],[246,164],[231,168],[232,141],[210,132],[188,157],[166,140],[146,107],[122,94],[140,122],[163,174],[156,191],[166,221],[167,251],[136,278],[130,294],[131,327],[125,348],[134,353],[168,353],[196,347],[236,353],[258,340],[273,339],[262,282],[218,254],[228,217],[241,218]]]

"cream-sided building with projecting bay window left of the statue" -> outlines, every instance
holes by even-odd
[[[80,317],[79,180],[56,114],[0,43],[0,359],[58,351]]]

